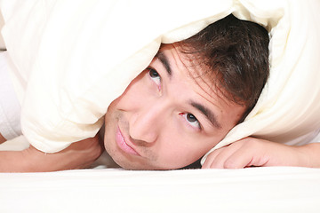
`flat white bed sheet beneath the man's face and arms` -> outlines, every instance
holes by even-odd
[[[0,212],[320,212],[320,170],[0,174]]]

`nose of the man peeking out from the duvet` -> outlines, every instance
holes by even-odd
[[[141,106],[132,114],[129,134],[132,139],[140,142],[153,143],[164,128],[166,119],[165,111],[168,110],[164,103],[148,104]]]

